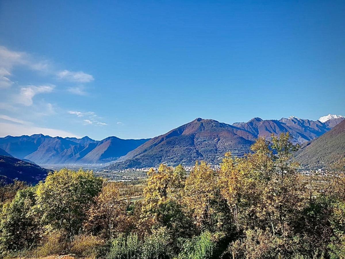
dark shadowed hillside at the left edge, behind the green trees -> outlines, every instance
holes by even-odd
[[[46,178],[50,170],[11,156],[0,156],[0,176],[7,182],[12,180],[36,184]]]

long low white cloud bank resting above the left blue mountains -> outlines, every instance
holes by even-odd
[[[0,137],[11,136],[22,136],[22,135],[33,135],[40,134],[49,135],[51,137],[76,137],[80,136],[73,134],[68,131],[57,130],[53,128],[36,127],[30,125],[19,125],[12,123],[2,123],[0,122]]]

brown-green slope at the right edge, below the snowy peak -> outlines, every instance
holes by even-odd
[[[344,156],[345,120],[321,137],[303,145],[296,153],[296,160],[302,166],[329,167]]]

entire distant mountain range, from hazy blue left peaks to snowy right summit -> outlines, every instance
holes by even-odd
[[[6,152],[39,165],[108,163],[111,169],[150,167],[160,163],[192,165],[195,160],[217,164],[227,151],[236,156],[250,152],[250,145],[258,137],[289,132],[293,142],[303,145],[329,132],[343,120],[343,116],[331,114],[317,121],[295,116],[279,120],[256,117],[230,125],[197,118],[163,135],[141,140],[123,140],[115,136],[101,141],[87,136],[7,136],[0,138],[0,155]]]

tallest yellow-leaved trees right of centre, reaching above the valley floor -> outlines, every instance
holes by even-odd
[[[239,237],[246,233],[258,240],[269,237],[279,244],[277,251],[292,253],[295,233],[291,226],[303,209],[305,189],[299,179],[298,164],[291,161],[297,148],[290,142],[289,134],[283,133],[279,138],[272,135],[271,141],[258,138],[251,147],[253,153],[241,159],[233,159],[230,154],[224,158],[221,193],[233,211]],[[258,231],[260,234],[256,234]],[[249,248],[251,242],[246,238],[243,242],[247,251],[259,249]]]

